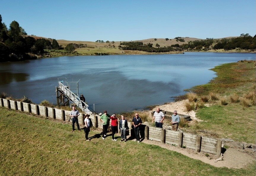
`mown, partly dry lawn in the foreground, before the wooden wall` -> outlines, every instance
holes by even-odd
[[[2,107],[0,114],[0,175],[256,174],[255,163],[216,168],[155,145],[114,142],[110,136],[102,140],[98,130],[86,142],[84,133],[72,133],[69,124]]]

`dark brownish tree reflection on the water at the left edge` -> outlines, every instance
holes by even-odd
[[[21,82],[28,80],[28,74],[26,73],[11,73],[1,72],[0,73],[0,85],[10,84],[11,82]]]

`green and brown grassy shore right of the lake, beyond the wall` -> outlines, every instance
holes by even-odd
[[[255,99],[249,101],[249,106],[244,106],[241,101],[250,93],[255,98],[254,62],[228,63],[216,66],[212,70],[217,72],[216,78],[208,84],[190,89],[197,93],[199,100],[201,96],[207,95],[209,97],[207,104],[211,106],[199,108],[196,116],[203,121],[190,125],[186,129],[193,132],[205,130],[206,133],[215,137],[255,143]],[[211,100],[210,92],[216,93],[219,100]],[[235,94],[239,99],[238,102],[232,103],[230,96]],[[226,105],[221,105],[221,98],[226,101]],[[200,104],[200,101],[197,103]]]

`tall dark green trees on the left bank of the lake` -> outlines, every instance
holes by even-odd
[[[12,21],[9,28],[2,22],[0,15],[0,62],[36,59],[36,54],[45,53],[44,49],[60,49],[55,39],[34,39],[17,21]]]

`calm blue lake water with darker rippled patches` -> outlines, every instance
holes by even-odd
[[[184,89],[214,78],[210,68],[255,53],[186,52],[175,55],[66,56],[0,63],[0,92],[34,103],[56,103],[58,78],[79,81],[79,94],[95,110],[132,111],[172,101]]]

